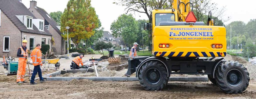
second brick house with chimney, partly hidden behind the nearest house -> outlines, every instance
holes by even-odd
[[[60,26],[56,23],[54,19],[42,8],[37,7],[36,1],[30,1],[30,8],[28,9],[37,19],[44,20],[44,27],[49,30],[52,37],[55,40],[55,44],[52,45],[52,50],[54,54],[65,54],[67,53],[67,42],[61,37]]]

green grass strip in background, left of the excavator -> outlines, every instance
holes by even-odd
[[[94,51],[94,53],[98,53],[98,51]],[[109,52],[108,51],[103,51],[104,55],[108,55]],[[114,51],[114,55],[122,55],[122,54],[130,54],[130,51],[127,51],[125,53],[125,51],[120,51],[120,50],[115,50]],[[144,50],[144,53],[143,53],[143,50],[140,50],[140,51],[137,51],[137,55],[138,56],[152,56],[151,54],[151,51],[146,51]]]

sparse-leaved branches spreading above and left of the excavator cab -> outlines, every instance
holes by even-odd
[[[126,14],[130,11],[145,13],[149,19],[150,13],[155,8],[171,8],[173,0],[116,0],[114,4],[126,6]]]

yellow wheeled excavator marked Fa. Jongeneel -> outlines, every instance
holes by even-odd
[[[249,85],[247,69],[227,61],[226,29],[208,20],[197,22],[189,0],[174,0],[173,9],[154,9],[144,29],[149,31],[153,56],[128,60],[130,77],[136,72],[145,90],[162,90],[172,74],[208,75],[209,80],[230,94],[242,93]],[[191,8],[192,7],[192,8]]]

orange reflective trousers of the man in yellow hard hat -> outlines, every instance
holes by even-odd
[[[25,73],[26,73],[26,65],[27,65],[27,60],[24,60],[24,59],[19,60],[16,82],[24,81],[24,76],[25,76]]]

